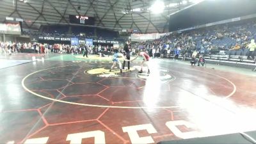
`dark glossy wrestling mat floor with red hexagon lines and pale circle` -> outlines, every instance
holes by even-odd
[[[157,143],[256,130],[255,73],[246,69],[154,59],[150,75],[137,62],[119,74],[100,58],[36,58],[0,69],[1,143]]]

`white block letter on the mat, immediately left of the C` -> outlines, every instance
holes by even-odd
[[[157,133],[156,129],[152,124],[145,125],[133,125],[129,127],[123,127],[123,132],[129,134],[131,143],[154,143],[155,141],[151,136],[140,137],[137,131],[147,130],[149,134]]]

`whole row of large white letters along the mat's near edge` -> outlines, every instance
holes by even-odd
[[[169,121],[169,122],[166,122],[165,125],[170,129],[170,131],[173,132],[173,134],[175,134],[175,136],[179,138],[187,139],[187,138],[200,137],[199,132],[197,131],[182,132],[177,128],[177,126],[179,125],[185,125],[188,128],[195,127],[193,124],[186,122],[184,120]],[[151,136],[140,137],[138,134],[138,131],[141,131],[141,130],[146,130],[148,134],[157,133],[156,129],[153,127],[152,124],[132,125],[128,127],[122,127],[122,130],[123,132],[127,132],[131,140],[131,143],[155,143],[155,141]],[[66,141],[70,141],[70,144],[79,144],[79,143],[82,143],[82,140],[85,138],[94,138],[95,143],[106,143],[105,133],[100,130],[68,134]],[[31,143],[46,144],[48,140],[49,140],[49,137],[33,138],[33,139],[26,140],[24,144],[31,144]],[[14,144],[14,143],[15,141],[9,141],[6,144]]]

